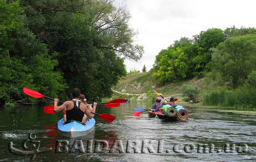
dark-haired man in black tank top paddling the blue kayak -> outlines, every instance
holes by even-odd
[[[54,112],[59,112],[67,108],[66,110],[66,117],[67,122],[71,122],[71,120],[75,120],[78,122],[82,122],[84,114],[89,118],[92,119],[94,114],[90,113],[90,110],[79,100],[81,95],[81,91],[78,88],[74,88],[71,97],[72,101],[66,101],[62,105],[58,106],[58,99],[54,99]],[[93,103],[93,110],[92,112],[95,113],[97,103]],[[85,121],[83,122],[85,124]]]

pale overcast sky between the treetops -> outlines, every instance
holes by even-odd
[[[136,43],[144,46],[139,63],[125,60],[127,71],[147,71],[155,56],[181,37],[208,28],[256,27],[256,0],[120,0],[131,14],[130,27],[138,31]]]

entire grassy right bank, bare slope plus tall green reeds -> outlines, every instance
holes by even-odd
[[[128,98],[131,101],[145,101],[152,102],[156,99],[157,94],[154,93],[153,88],[161,93],[163,97],[169,99],[175,97],[177,102],[185,103],[182,97],[180,88],[183,84],[193,85],[200,88],[197,99],[201,102],[195,105],[219,106],[226,107],[228,110],[255,110],[256,88],[244,85],[235,90],[230,90],[228,87],[217,86],[209,84],[206,77],[193,78],[176,83],[169,83],[166,85],[159,85],[151,76],[151,72],[140,74],[128,74],[119,80],[119,83],[113,87],[114,98]]]

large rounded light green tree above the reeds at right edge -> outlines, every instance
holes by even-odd
[[[256,70],[256,35],[230,37],[213,49],[213,69],[221,73],[230,86],[242,85]]]

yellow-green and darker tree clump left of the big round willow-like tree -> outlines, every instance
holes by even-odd
[[[211,48],[225,40],[224,32],[211,28],[193,37],[193,40],[182,37],[159,52],[154,63],[154,78],[161,83],[176,82],[194,76],[203,77],[205,71],[212,70]]]

